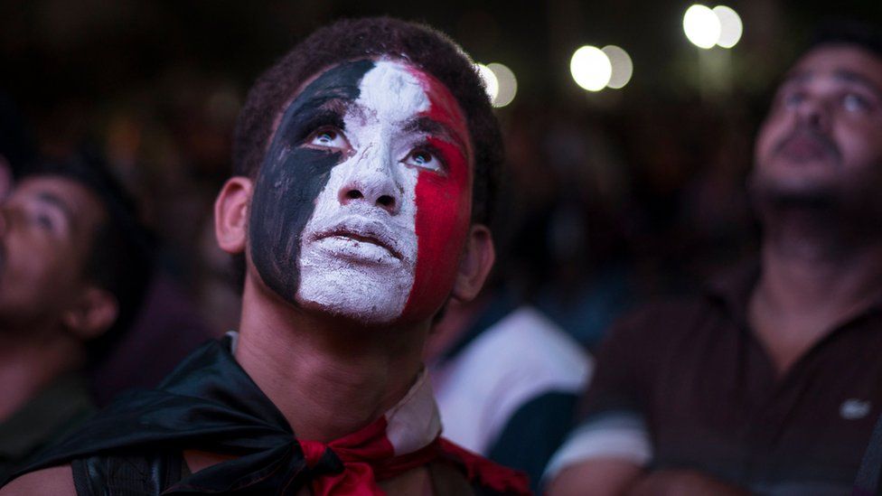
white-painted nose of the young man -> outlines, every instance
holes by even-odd
[[[387,150],[374,146],[353,161],[352,170],[342,183],[340,203],[363,201],[391,214],[401,207],[401,188],[396,181],[394,161]],[[383,147],[385,148],[385,147]]]

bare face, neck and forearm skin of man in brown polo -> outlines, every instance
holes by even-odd
[[[764,228],[748,320],[783,377],[882,297],[882,60],[843,44],[803,55],[757,136],[748,186]],[[706,473],[605,459],[549,486],[553,496],[741,493]]]

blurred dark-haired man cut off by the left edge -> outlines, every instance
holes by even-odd
[[[0,204],[0,479],[94,411],[81,372],[126,330],[149,274],[135,219],[86,157],[32,165]]]

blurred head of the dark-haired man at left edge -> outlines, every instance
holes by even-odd
[[[100,360],[134,319],[151,272],[130,198],[96,157],[43,160],[3,205],[0,319],[60,328]]]

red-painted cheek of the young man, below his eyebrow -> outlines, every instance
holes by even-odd
[[[423,171],[416,187],[417,267],[404,315],[434,314],[456,277],[472,211],[468,165],[451,145],[430,140],[448,157],[448,173]]]

